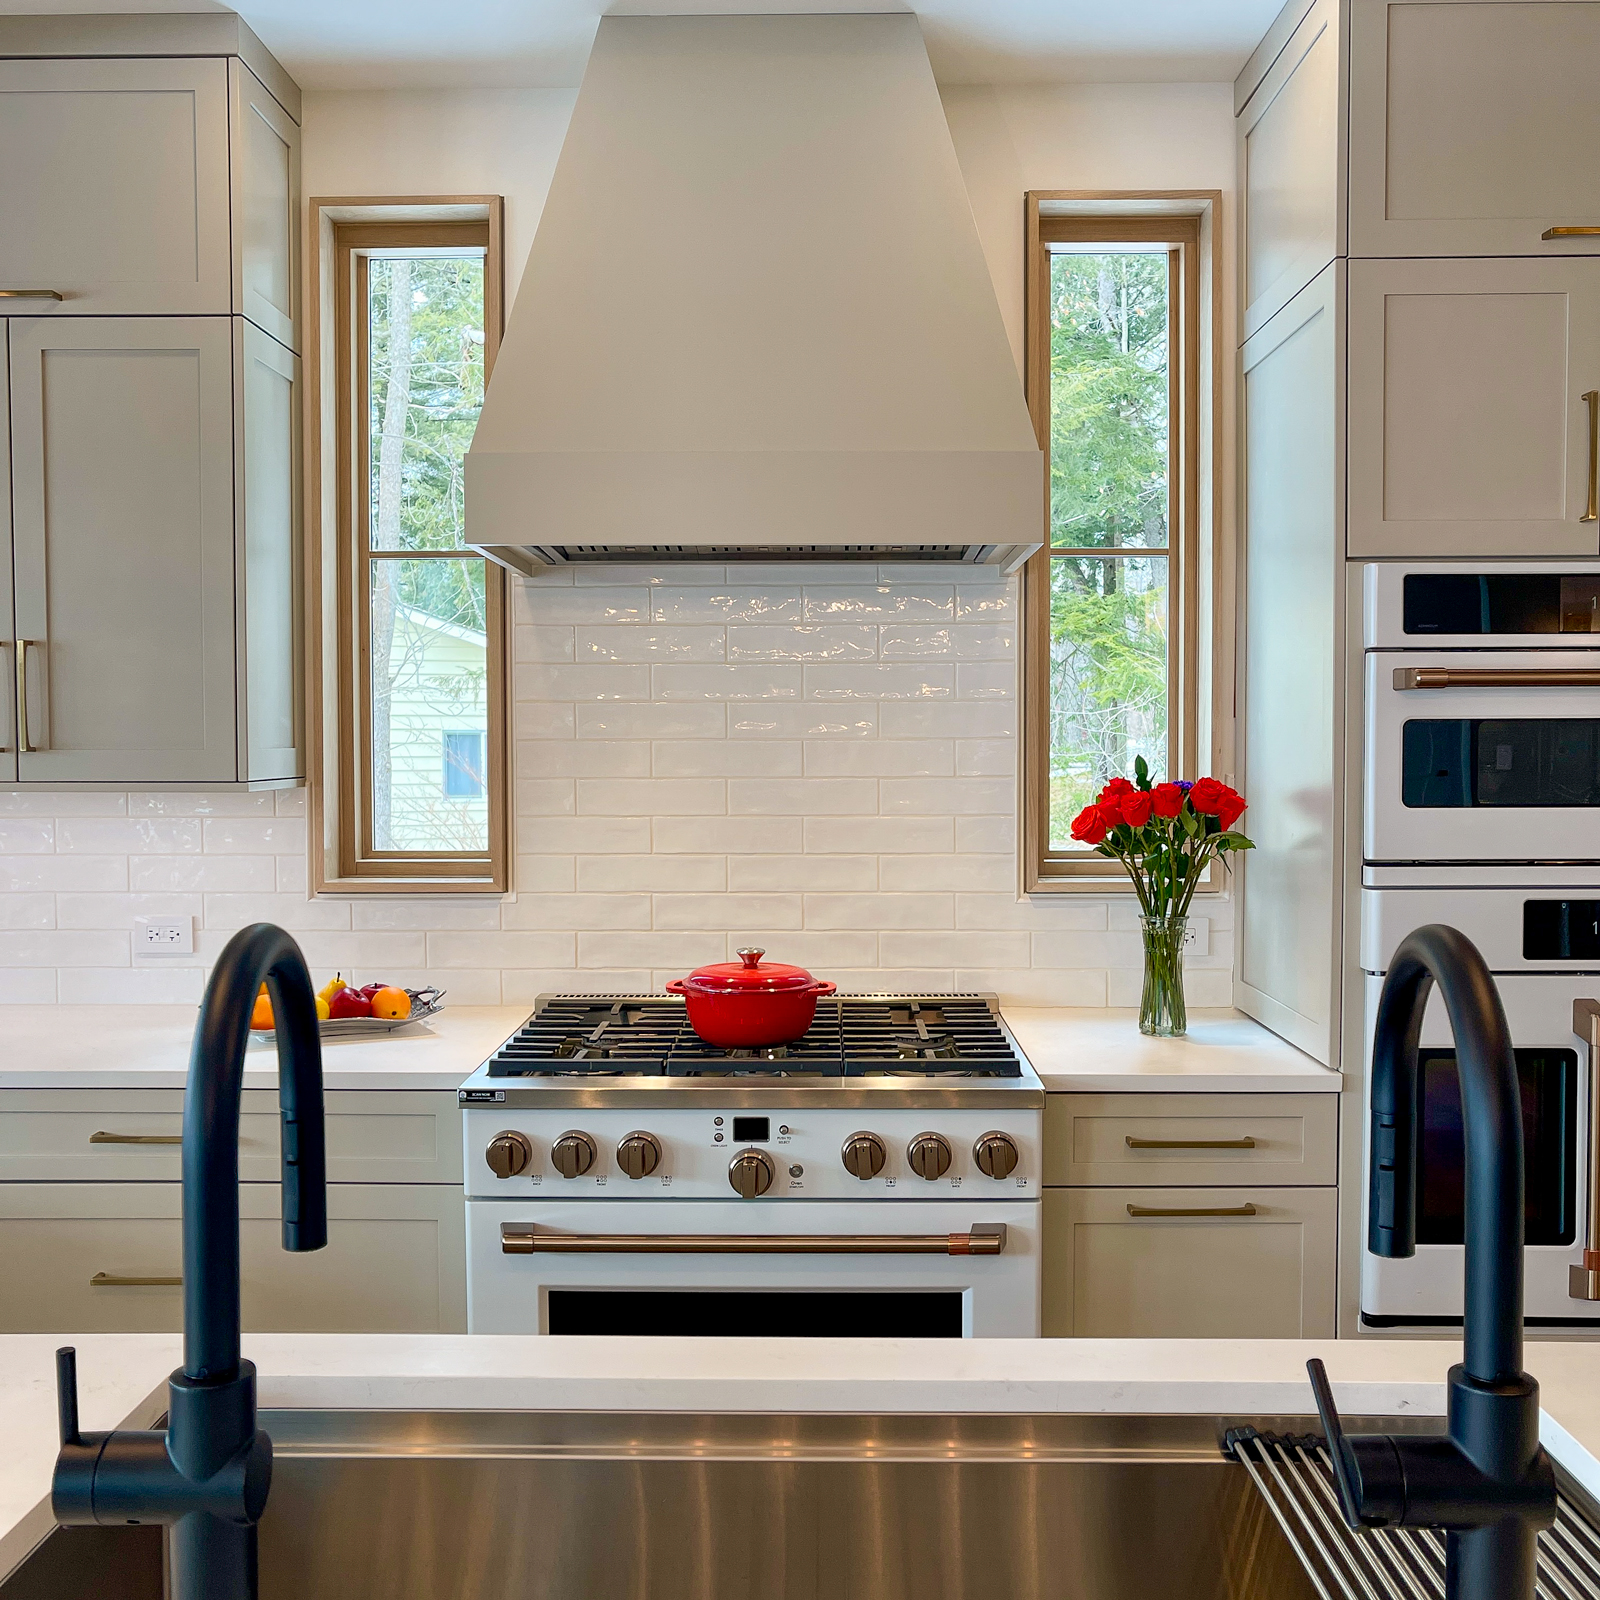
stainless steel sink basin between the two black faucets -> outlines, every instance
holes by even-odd
[[[262,1600],[1314,1600],[1219,1450],[1230,1426],[1314,1418],[261,1421]],[[149,1528],[58,1530],[0,1582],[0,1600],[160,1595]]]

